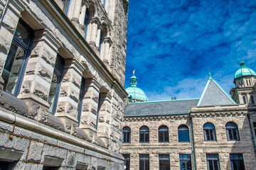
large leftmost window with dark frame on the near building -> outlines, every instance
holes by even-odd
[[[32,40],[33,30],[20,19],[1,74],[4,79],[4,91],[8,91],[14,96],[18,96],[21,89]]]

